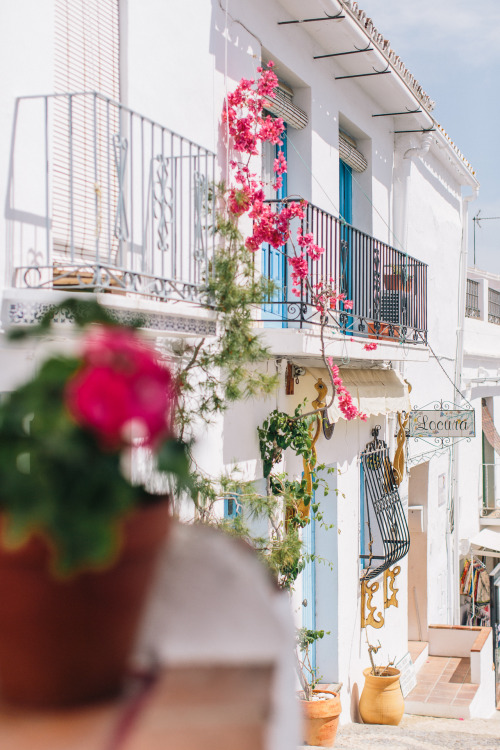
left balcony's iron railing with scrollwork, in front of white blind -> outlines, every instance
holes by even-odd
[[[14,286],[199,301],[215,155],[101,94],[16,102],[7,278]]]

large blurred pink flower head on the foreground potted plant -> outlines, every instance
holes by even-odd
[[[100,326],[84,343],[83,365],[68,382],[65,401],[73,418],[109,449],[131,442],[132,425],[154,446],[172,432],[175,383],[134,331]]]

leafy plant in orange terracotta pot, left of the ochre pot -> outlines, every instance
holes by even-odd
[[[300,628],[297,631],[297,674],[302,687],[299,698],[304,716],[304,743],[314,747],[333,746],[342,711],[338,693],[316,689],[321,678],[311,664],[310,649],[324,635],[324,630]]]

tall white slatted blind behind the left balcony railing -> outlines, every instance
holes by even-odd
[[[118,0],[56,0],[57,93],[97,91],[120,99]],[[52,170],[56,260],[95,260],[96,237],[116,262],[122,161],[119,110],[91,96],[54,100]],[[118,140],[117,140],[118,139]],[[114,162],[110,153],[114,153]]]

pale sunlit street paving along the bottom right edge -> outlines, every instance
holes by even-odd
[[[500,712],[493,719],[404,716],[398,727],[340,727],[335,750],[500,750]],[[316,748],[317,750],[317,748]]]

